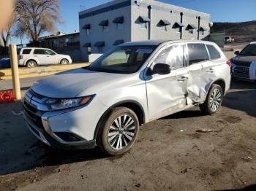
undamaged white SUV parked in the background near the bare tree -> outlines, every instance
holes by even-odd
[[[59,55],[48,48],[24,47],[20,50],[20,66],[35,67],[39,65],[68,63],[72,63],[69,55]]]

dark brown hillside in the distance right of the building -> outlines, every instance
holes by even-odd
[[[233,36],[236,41],[256,40],[256,20],[241,23],[214,23],[211,33],[225,32],[226,36]]]

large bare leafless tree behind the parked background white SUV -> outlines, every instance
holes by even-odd
[[[40,34],[56,31],[61,23],[59,0],[16,0],[16,7],[16,36],[25,34],[38,42]]]

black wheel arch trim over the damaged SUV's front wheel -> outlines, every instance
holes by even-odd
[[[97,139],[99,127],[102,124],[105,117],[107,117],[108,114],[110,114],[110,112],[113,111],[113,109],[115,109],[116,107],[121,107],[121,106],[132,109],[132,111],[135,112],[135,114],[137,115],[140,125],[145,123],[145,112],[144,112],[143,106],[141,106],[141,104],[138,103],[138,101],[134,101],[134,100],[119,101],[118,103],[113,104],[113,106],[110,106],[104,112],[104,114],[102,114],[102,117],[99,118],[99,121],[97,122],[97,126],[94,131],[94,139]]]

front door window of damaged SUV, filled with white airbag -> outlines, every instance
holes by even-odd
[[[166,63],[170,68],[179,69],[184,67],[184,46],[175,45],[165,48],[157,55],[154,63]]]

